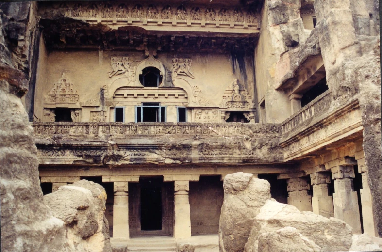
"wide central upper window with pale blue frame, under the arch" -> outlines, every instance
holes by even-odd
[[[166,107],[159,103],[142,103],[136,107],[136,120],[141,122],[166,122]]]

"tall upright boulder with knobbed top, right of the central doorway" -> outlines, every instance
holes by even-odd
[[[270,184],[240,172],[226,175],[223,187],[219,249],[220,252],[242,252],[255,216],[270,199]]]

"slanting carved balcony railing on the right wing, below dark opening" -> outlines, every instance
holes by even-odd
[[[301,126],[308,119],[316,117],[328,110],[331,104],[330,91],[318,96],[316,99],[308,103],[305,107],[297,111],[289,119],[282,123],[282,133],[287,133]]]

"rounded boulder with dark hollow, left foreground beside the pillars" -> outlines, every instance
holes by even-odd
[[[111,252],[105,218],[105,189],[81,180],[44,196],[53,216],[64,221],[68,251]]]

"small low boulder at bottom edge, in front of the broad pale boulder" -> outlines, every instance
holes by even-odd
[[[301,235],[294,227],[263,233],[259,236],[259,252],[322,251],[321,247]]]

